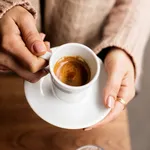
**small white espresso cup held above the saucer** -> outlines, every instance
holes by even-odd
[[[54,66],[60,58],[67,56],[79,56],[88,64],[91,71],[90,81],[82,86],[70,86],[60,81],[54,73]],[[100,73],[100,63],[96,54],[87,46],[78,43],[67,43],[57,47],[52,53],[47,52],[41,56],[49,60],[49,70],[52,80],[53,94],[63,101],[69,103],[80,102],[87,95],[86,92],[94,82],[96,82]]]

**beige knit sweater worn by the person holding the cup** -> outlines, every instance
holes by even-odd
[[[30,4],[32,3],[32,5]],[[21,5],[38,12],[39,0],[0,0],[0,18],[12,7]],[[125,50],[141,70],[144,46],[150,31],[150,0],[43,0],[42,27],[52,46],[79,42],[96,53],[115,46]],[[36,10],[36,11],[35,11]]]

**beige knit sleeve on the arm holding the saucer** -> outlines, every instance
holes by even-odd
[[[107,18],[103,38],[96,47],[99,53],[110,47],[124,50],[139,74],[144,47],[150,33],[149,0],[118,0]]]

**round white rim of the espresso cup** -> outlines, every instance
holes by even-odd
[[[60,80],[57,78],[57,76],[55,75],[55,73],[54,73],[54,71],[53,71],[53,68],[51,67],[51,61],[52,61],[51,58],[50,58],[50,60],[49,60],[50,73],[51,73],[52,77],[54,78],[54,80],[55,80],[58,84],[60,84],[61,86],[63,86],[65,89],[69,89],[69,90],[77,90],[77,89],[78,89],[78,90],[79,90],[79,89],[86,88],[86,87],[88,87],[89,85],[91,85],[93,82],[95,82],[95,81],[97,80],[98,76],[99,76],[99,73],[100,73],[100,63],[99,63],[98,57],[96,56],[96,54],[95,54],[89,47],[87,47],[87,46],[85,46],[85,45],[83,45],[83,44],[80,44],[80,43],[67,43],[67,44],[63,44],[63,45],[61,45],[60,47],[58,47],[58,48],[56,49],[56,52],[54,52],[51,57],[54,57],[54,56],[56,55],[56,53],[59,53],[62,48],[64,48],[65,46],[68,46],[68,45],[78,45],[78,46],[84,47],[84,48],[85,48],[86,50],[88,50],[88,51],[91,53],[91,55],[95,58],[96,64],[97,64],[97,72],[96,72],[96,74],[94,75],[93,79],[92,79],[90,82],[88,82],[87,84],[82,85],[82,86],[71,86],[71,85],[67,85],[67,84],[63,83],[62,81],[60,81]]]

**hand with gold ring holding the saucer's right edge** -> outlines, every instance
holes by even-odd
[[[104,65],[108,74],[103,99],[106,107],[111,108],[108,116],[98,124],[85,130],[104,125],[119,116],[125,105],[135,96],[135,71],[131,58],[121,49],[112,49],[105,57]]]

